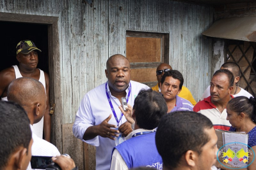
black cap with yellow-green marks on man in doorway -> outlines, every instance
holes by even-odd
[[[16,52],[17,54],[18,53],[29,53],[29,52],[32,52],[33,50],[38,50],[40,52],[42,52],[41,50],[39,50],[35,43],[29,39],[27,40],[23,40],[23,41],[20,41],[17,46],[16,46]]]

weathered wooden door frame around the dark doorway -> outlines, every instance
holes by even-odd
[[[51,119],[51,142],[62,151],[62,107],[61,107],[61,74],[60,74],[60,42],[58,32],[58,17],[42,15],[26,15],[19,13],[0,12],[0,21],[23,22],[48,25],[48,55],[50,77],[50,101],[51,106],[55,103],[54,115]],[[58,96],[58,97],[55,97]]]

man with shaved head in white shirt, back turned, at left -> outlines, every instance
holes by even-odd
[[[39,138],[33,132],[33,124],[36,124],[44,116],[47,96],[44,86],[33,78],[17,78],[10,83],[7,90],[8,101],[20,104],[26,110],[32,131],[33,145],[32,155],[55,157],[60,155],[56,146]],[[30,167],[28,167],[30,169]]]

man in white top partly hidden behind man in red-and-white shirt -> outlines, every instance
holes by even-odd
[[[240,70],[240,67],[235,62],[225,62],[224,64],[222,64],[220,69],[228,69],[234,75],[235,80],[234,80],[234,85],[233,85],[234,88],[231,91],[232,96],[234,96],[234,97],[245,96],[248,98],[252,97],[252,94],[250,94],[243,88],[238,87],[236,85],[236,83],[240,80],[241,70]],[[211,96],[210,85],[207,87],[207,89],[205,89],[204,94],[200,98],[200,101],[203,101],[204,98],[207,98],[209,96]]]

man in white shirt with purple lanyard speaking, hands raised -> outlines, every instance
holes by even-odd
[[[109,57],[105,70],[108,81],[90,90],[79,106],[73,133],[76,138],[96,146],[96,169],[109,169],[111,152],[115,147],[115,137],[119,132],[127,136],[132,131],[118,106],[121,98],[133,106],[134,99],[147,85],[130,81],[129,60],[123,55]],[[116,130],[115,128],[118,128]]]

